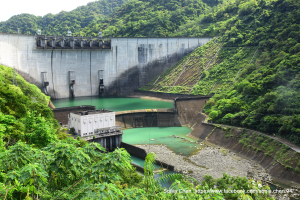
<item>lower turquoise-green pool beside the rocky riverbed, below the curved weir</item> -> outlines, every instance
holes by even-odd
[[[186,137],[191,129],[188,127],[152,127],[123,130],[122,140],[125,143],[136,144],[164,144],[176,154],[191,156],[201,148],[195,140]],[[175,138],[176,135],[179,138]],[[185,140],[181,139],[185,138]],[[153,140],[154,139],[154,140]],[[193,142],[193,143],[192,143]]]

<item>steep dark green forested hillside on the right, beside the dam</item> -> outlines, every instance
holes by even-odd
[[[207,34],[220,37],[142,89],[215,94],[204,109],[210,120],[276,134],[299,145],[300,2],[231,1],[174,33]],[[214,54],[216,45],[222,48]],[[182,75],[193,70],[200,74],[176,82],[184,70]],[[200,81],[192,83],[194,76]]]

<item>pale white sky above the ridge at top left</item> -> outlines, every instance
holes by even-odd
[[[57,14],[62,10],[71,11],[92,1],[95,0],[1,0],[0,22],[22,13],[44,16],[48,13]]]

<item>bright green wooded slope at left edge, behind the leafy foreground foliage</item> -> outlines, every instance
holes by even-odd
[[[0,148],[19,140],[38,147],[57,141],[58,124],[48,107],[50,98],[19,74],[18,86],[13,85],[12,68],[0,65],[0,72]]]

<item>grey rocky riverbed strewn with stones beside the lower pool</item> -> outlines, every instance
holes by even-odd
[[[154,152],[157,160],[173,165],[174,170],[189,174],[197,181],[204,180],[204,175],[220,178],[223,172],[230,176],[254,178],[254,180],[271,181],[271,176],[255,163],[243,159],[233,152],[218,147],[206,146],[196,155],[186,157],[173,153],[163,145],[137,145],[147,153]]]

